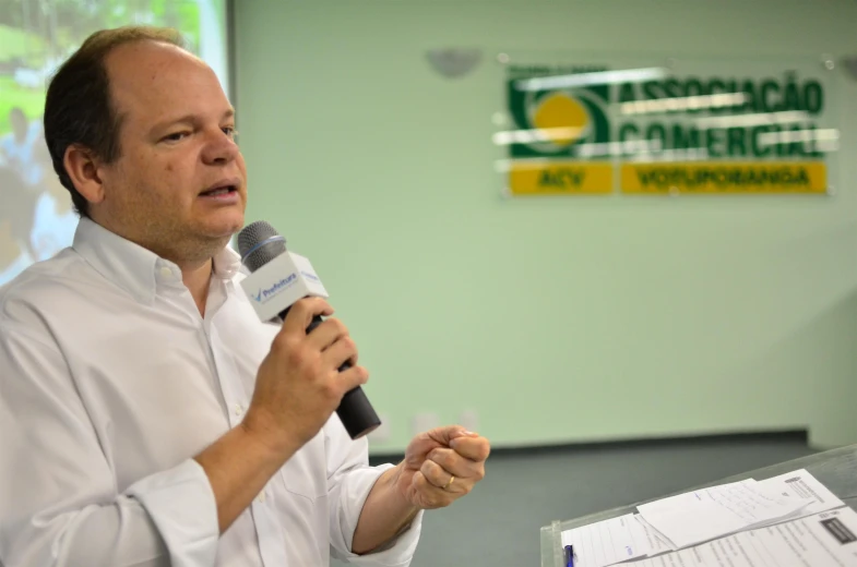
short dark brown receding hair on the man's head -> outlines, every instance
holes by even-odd
[[[92,34],[57,70],[45,100],[45,141],[53,171],[71,193],[74,208],[90,216],[90,203],[74,188],[63,158],[70,145],[90,149],[106,164],[119,158],[122,116],[110,98],[105,59],[117,47],[136,41],[158,41],[185,48],[181,34],[171,28],[126,26]]]

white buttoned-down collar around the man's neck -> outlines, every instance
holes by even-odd
[[[72,248],[109,281],[138,301],[152,304],[159,285],[181,286],[181,269],[157,254],[86,217],[81,217]],[[214,277],[229,280],[241,268],[237,252],[228,245],[213,258]]]

